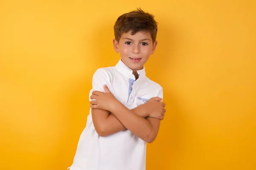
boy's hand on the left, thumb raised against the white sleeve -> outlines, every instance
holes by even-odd
[[[96,99],[90,101],[90,107],[92,109],[102,109],[105,111],[112,111],[114,106],[119,102],[115,96],[108,89],[107,85],[104,85],[104,92],[101,91],[93,91],[90,99]]]

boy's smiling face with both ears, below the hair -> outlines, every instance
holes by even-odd
[[[157,41],[153,43],[149,32],[123,33],[119,42],[113,40],[114,49],[120,53],[122,61],[133,71],[141,70],[154,54]]]

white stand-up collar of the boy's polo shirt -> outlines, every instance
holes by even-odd
[[[116,64],[116,69],[125,76],[135,79],[134,75],[132,74],[132,69],[125,65],[125,63],[122,62],[122,59],[119,59],[118,63]],[[137,73],[139,75],[139,79],[146,77],[145,66],[143,66],[143,69],[138,70]]]

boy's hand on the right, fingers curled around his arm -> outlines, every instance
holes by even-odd
[[[145,103],[147,105],[148,117],[157,118],[163,120],[165,116],[166,109],[165,103],[160,102],[162,99],[160,97],[153,97]]]

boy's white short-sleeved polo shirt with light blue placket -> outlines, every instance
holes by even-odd
[[[152,97],[163,98],[163,88],[145,75],[145,67],[137,71],[135,81],[132,70],[120,59],[115,67],[99,68],[93,75],[93,91],[103,91],[108,85],[111,93],[130,110]],[[146,142],[130,130],[101,137],[93,126],[91,109],[87,125],[81,133],[76,155],[70,170],[145,170]]]

